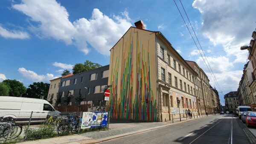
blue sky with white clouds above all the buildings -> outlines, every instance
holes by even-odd
[[[180,1],[175,0],[186,15]],[[186,60],[207,73],[223,95],[236,91],[255,30],[253,0],[182,0],[219,86],[201,58],[173,0],[1,0],[0,81],[24,86],[59,77],[64,69],[90,60],[109,64],[109,49],[134,22],[160,31]],[[189,26],[189,29],[191,27]]]

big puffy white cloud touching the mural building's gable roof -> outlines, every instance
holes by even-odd
[[[110,55],[109,49],[119,40],[120,37],[131,26],[128,12],[125,18],[114,15],[113,19],[104,15],[99,9],[93,9],[92,18],[80,18],[73,22],[77,29],[75,44],[87,54],[87,43],[93,46],[102,55]]]

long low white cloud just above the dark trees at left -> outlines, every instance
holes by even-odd
[[[55,78],[58,78],[58,77],[55,77],[54,75],[52,74],[49,74],[47,73],[46,75],[38,75],[37,73],[31,71],[31,70],[26,70],[25,68],[21,67],[18,69],[18,71],[20,72],[20,74],[33,81],[33,82],[45,82],[45,83],[49,83],[49,80],[52,80],[52,79],[55,79]]]

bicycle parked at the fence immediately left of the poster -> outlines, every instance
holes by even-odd
[[[80,118],[77,115],[68,116],[67,119],[64,119],[58,126],[57,132],[58,135],[65,135],[69,132],[76,133],[79,130],[79,120]]]

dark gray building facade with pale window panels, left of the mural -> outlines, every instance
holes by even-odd
[[[81,72],[67,78],[61,78],[58,96],[61,97],[61,104],[58,106],[67,106],[64,102],[67,95],[73,95],[70,105],[79,105],[76,98],[79,95],[85,98],[81,104],[90,104],[90,106],[103,106],[104,90],[108,85],[109,65],[102,66],[87,72]]]

